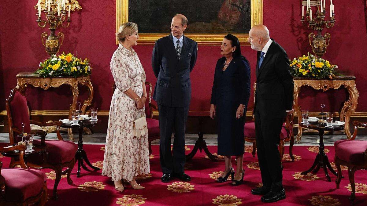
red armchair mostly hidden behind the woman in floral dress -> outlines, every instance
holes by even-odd
[[[145,87],[149,98],[149,101],[145,102],[145,116],[148,125],[149,154],[152,154],[152,141],[160,138],[159,122],[157,119],[153,119],[153,108],[158,110],[158,107],[152,103],[152,83],[145,82]],[[112,90],[114,92],[115,89],[116,84],[113,84]]]

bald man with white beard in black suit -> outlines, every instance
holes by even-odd
[[[293,78],[286,51],[270,39],[264,25],[256,25],[249,32],[248,41],[257,52],[255,91],[255,132],[257,155],[264,186],[251,190],[263,195],[262,202],[276,202],[286,198],[278,150],[279,135],[286,112],[293,105]]]

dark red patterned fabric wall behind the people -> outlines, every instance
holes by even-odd
[[[327,1],[327,4],[329,2]],[[0,7],[0,110],[11,88],[15,87],[15,75],[19,71],[34,71],[39,62],[47,58],[41,44],[41,29],[36,23],[35,1],[3,1]],[[61,51],[73,52],[81,58],[91,59],[92,84],[94,86],[93,106],[109,110],[113,78],[109,69],[110,58],[117,48],[115,45],[115,12],[112,1],[80,1],[83,10],[72,14],[68,28],[58,29],[65,34]],[[331,34],[330,45],[324,58],[339,66],[339,70],[357,77],[359,91],[357,111],[367,112],[367,32],[366,0],[335,1],[336,23],[324,32]],[[327,7],[328,8],[328,7]],[[179,12],[179,11],[178,11]],[[290,58],[310,52],[307,35],[310,30],[301,25],[301,1],[264,0],[264,24],[270,36],[287,51]],[[190,21],[190,19],[189,19]],[[164,23],[164,22],[162,22]],[[167,23],[167,22],[166,22]],[[168,24],[167,24],[168,25]],[[169,27],[167,26],[167,32]],[[156,78],[150,66],[153,46],[135,46],[147,74],[147,81],[155,85]],[[251,63],[251,82],[255,81],[256,52],[250,47],[241,47],[243,55]],[[214,66],[220,58],[218,46],[199,46],[196,66],[191,73],[192,102],[190,110],[208,110]],[[87,90],[80,88],[79,100],[87,97]],[[327,111],[337,111],[347,93],[343,89],[320,92],[309,87],[302,89],[300,104],[310,111],[320,111],[320,103],[326,104]],[[68,110],[72,100],[68,86],[31,88],[26,92],[33,110]],[[34,98],[31,98],[34,97]],[[251,96],[250,101],[253,101]]]

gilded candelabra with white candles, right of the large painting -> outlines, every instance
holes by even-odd
[[[312,30],[317,31],[317,35],[315,36],[315,33],[311,32],[308,35],[308,40],[310,42],[310,46],[312,47],[313,53],[321,57],[325,54],[326,48],[329,45],[330,42],[330,34],[325,33],[324,36],[321,35],[322,30],[324,29],[324,26],[328,29],[334,26],[335,23],[335,14],[334,14],[334,4],[333,0],[330,0],[330,20],[326,21],[326,7],[325,2],[326,0],[320,0],[320,1],[311,1],[306,0],[302,1],[302,25],[306,25],[308,28],[311,28]],[[304,13],[306,5],[306,14]],[[317,11],[314,16],[312,16],[312,9],[311,5],[317,7]]]

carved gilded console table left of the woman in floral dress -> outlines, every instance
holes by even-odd
[[[27,84],[32,85],[33,87],[41,87],[44,90],[50,87],[60,87],[62,84],[69,84],[70,90],[73,93],[73,102],[70,105],[69,110],[69,119],[72,117],[72,111],[76,110],[76,104],[79,95],[78,85],[84,85],[88,87],[89,97],[84,101],[83,106],[81,107],[81,111],[83,114],[86,113],[87,106],[91,105],[93,99],[93,86],[91,84],[91,80],[89,76],[82,76],[78,78],[74,77],[52,77],[52,78],[44,78],[39,76],[38,74],[33,74],[33,72],[25,71],[17,74],[17,88],[20,89],[21,93],[25,92],[25,88]],[[87,133],[90,133],[90,130],[86,130]],[[74,141],[74,136],[71,129],[68,129],[69,140]]]

